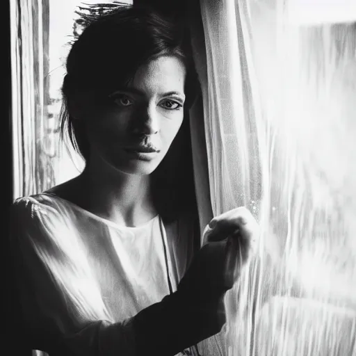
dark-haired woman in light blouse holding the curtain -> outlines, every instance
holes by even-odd
[[[197,353],[225,323],[223,297],[255,222],[246,209],[214,218],[195,251],[194,191],[180,165],[196,81],[185,31],[148,8],[99,9],[83,17],[63,82],[62,129],[86,167],[13,204],[22,346]]]

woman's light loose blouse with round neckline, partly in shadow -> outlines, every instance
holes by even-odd
[[[132,317],[175,291],[193,256],[190,216],[126,227],[52,193],[17,199],[12,216],[24,330],[51,356],[134,355]]]

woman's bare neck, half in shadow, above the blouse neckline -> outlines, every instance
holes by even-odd
[[[149,175],[128,175],[88,164],[79,177],[54,193],[118,225],[139,226],[157,215]]]

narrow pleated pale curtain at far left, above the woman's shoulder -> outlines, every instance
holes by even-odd
[[[11,1],[14,198],[53,182],[42,138],[49,101],[49,1]]]

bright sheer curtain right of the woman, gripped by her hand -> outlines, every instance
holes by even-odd
[[[202,354],[216,342],[216,355],[356,355],[355,2],[200,9],[209,182],[197,195],[213,216],[248,207],[262,230],[226,297],[227,330]]]

